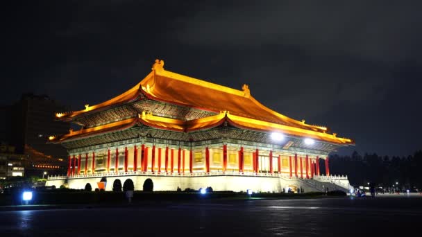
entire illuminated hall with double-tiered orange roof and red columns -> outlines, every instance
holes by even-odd
[[[142,190],[212,186],[216,191],[348,190],[347,177],[319,175],[319,164],[351,139],[259,103],[247,85],[231,89],[164,69],[156,60],[135,87],[98,105],[56,114],[81,130],[49,137],[69,152],[69,188],[132,179]],[[327,173],[329,170],[327,168]]]

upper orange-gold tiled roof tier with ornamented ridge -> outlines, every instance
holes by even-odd
[[[230,114],[250,119],[289,125],[317,132],[326,132],[327,128],[307,125],[305,121],[296,121],[275,112],[255,100],[247,85],[242,90],[223,87],[211,82],[190,78],[164,70],[164,62],[155,60],[152,71],[135,87],[98,105],[85,105],[85,109],[58,113],[56,117],[63,121],[72,121],[80,116],[96,113],[111,106],[129,103],[140,98],[140,94],[166,103],[174,103],[211,112],[228,111]]]

